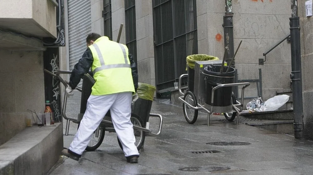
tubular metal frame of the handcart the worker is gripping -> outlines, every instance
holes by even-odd
[[[53,77],[57,78],[60,80],[60,82],[62,82],[62,84],[64,85],[65,88],[68,87],[69,82],[67,82],[66,80],[64,80],[60,75],[61,74],[66,74],[69,75],[72,73],[72,71],[64,71],[64,70],[59,70],[56,71],[55,74],[50,72],[49,70],[44,69],[44,72],[48,73],[49,75],[52,75]],[[87,78],[88,80],[90,80],[90,82],[92,82],[93,84],[95,83],[95,80],[89,75],[89,74],[84,74],[84,77]],[[76,87],[76,90],[82,92],[82,89],[80,87]],[[64,90],[64,99],[63,99],[63,107],[62,107],[62,116],[64,119],[66,119],[66,129],[65,129],[65,135],[69,135],[69,122],[72,121],[73,123],[79,124],[80,120],[78,119],[74,119],[74,118],[69,118],[66,116],[66,104],[67,104],[67,95],[66,95],[66,91]],[[159,134],[161,134],[162,131],[162,125],[163,125],[163,118],[162,115],[160,114],[150,114],[150,117],[158,117],[160,119],[159,122],[159,129],[157,133],[153,133],[152,130],[147,129],[147,128],[143,128],[143,127],[138,127],[133,125],[134,129],[138,129],[140,131],[144,131],[146,134],[151,135],[151,136],[158,136]],[[110,132],[115,132],[115,129],[113,127],[113,123],[112,121],[110,121],[110,116],[104,116],[104,119],[102,119],[99,127],[96,130],[96,137],[99,137],[99,130],[100,128],[104,128],[104,131],[110,131]],[[146,124],[145,124],[146,125]],[[142,147],[143,147],[142,143]]]

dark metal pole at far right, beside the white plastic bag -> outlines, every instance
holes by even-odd
[[[302,138],[303,101],[301,80],[301,46],[300,46],[300,19],[298,17],[297,0],[291,0],[290,38],[291,38],[291,74],[292,96],[294,111],[295,138]]]

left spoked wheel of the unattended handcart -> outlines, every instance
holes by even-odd
[[[189,104],[194,107],[198,106],[197,99],[195,95],[191,91],[187,91],[184,100]],[[185,119],[187,120],[188,123],[194,124],[198,118],[198,109],[192,109],[185,103],[182,104],[182,109],[184,111]]]

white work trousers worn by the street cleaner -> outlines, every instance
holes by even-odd
[[[133,124],[131,123],[132,93],[123,92],[111,95],[90,95],[87,108],[69,150],[81,155],[94,131],[110,109],[117,137],[120,139],[126,157],[139,155],[135,146]]]

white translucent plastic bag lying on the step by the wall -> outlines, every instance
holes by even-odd
[[[275,111],[282,107],[289,100],[289,95],[276,95],[275,97],[266,100],[264,105],[261,106],[261,111]]]

